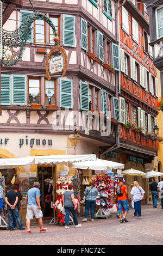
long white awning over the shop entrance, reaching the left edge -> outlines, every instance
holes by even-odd
[[[67,164],[79,161],[96,160],[96,155],[50,155],[50,156],[27,156],[13,159],[0,159],[0,169],[12,169],[28,164]]]

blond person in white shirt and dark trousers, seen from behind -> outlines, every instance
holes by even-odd
[[[134,215],[133,217],[141,216],[141,200],[144,197],[145,191],[139,186],[137,181],[133,182],[133,188],[131,189],[131,200],[134,202]]]

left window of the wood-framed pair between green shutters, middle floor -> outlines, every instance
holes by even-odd
[[[28,104],[40,104],[40,78],[28,78]]]

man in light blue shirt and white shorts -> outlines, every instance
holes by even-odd
[[[42,223],[42,211],[40,206],[40,183],[34,182],[34,187],[30,188],[27,192],[26,196],[26,209],[27,209],[27,215],[26,215],[26,225],[27,225],[27,233],[32,233],[30,231],[30,220],[33,219],[33,216],[38,219],[39,226],[40,226],[40,232],[45,232],[47,228],[43,228]]]

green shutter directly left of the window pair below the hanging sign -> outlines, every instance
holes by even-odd
[[[27,105],[27,80],[23,75],[12,75],[12,104]]]

